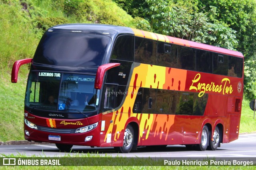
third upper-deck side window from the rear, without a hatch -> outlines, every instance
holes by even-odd
[[[212,73],[212,55],[209,51],[196,50],[196,71]]]

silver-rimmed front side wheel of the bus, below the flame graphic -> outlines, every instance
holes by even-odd
[[[122,147],[114,147],[117,152],[129,153],[134,145],[134,130],[131,125],[127,125],[124,131],[124,141]]]

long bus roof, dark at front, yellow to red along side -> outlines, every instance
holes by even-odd
[[[244,57],[242,53],[238,51],[224,49],[221,47],[216,47],[216,46],[207,45],[203,43],[197,43],[194,41],[188,41],[186,39],[170,37],[168,35],[161,35],[158,33],[142,31],[140,29],[134,29],[134,28],[122,27],[122,26],[116,26],[116,25],[72,23],[72,24],[56,25],[48,29],[48,31],[58,31],[58,30],[69,31],[69,32],[73,31],[73,32],[84,32],[84,33],[100,33],[100,34],[109,35],[112,38],[114,38],[118,34],[132,34],[138,37],[144,37],[148,39],[164,41],[167,43],[173,43],[173,44],[182,45],[186,47],[212,51],[212,52],[221,53],[224,55],[232,55],[232,56],[242,57],[242,58]]]

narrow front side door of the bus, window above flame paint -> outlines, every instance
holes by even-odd
[[[117,114],[116,107],[116,84],[105,84],[102,93],[102,121],[100,130],[101,147],[112,146],[116,129],[114,129],[114,119]]]

